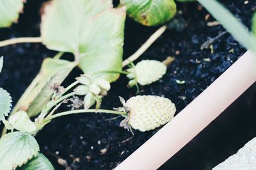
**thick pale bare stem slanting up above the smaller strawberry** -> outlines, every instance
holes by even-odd
[[[154,34],[152,34],[152,36],[150,36],[150,38],[148,38],[148,40],[134,54],[128,57],[128,59],[124,60],[123,67],[127,66],[130,62],[138,59],[141,54],[143,54],[152,45],[152,43],[154,43],[154,41],[156,41],[156,39],[164,33],[164,31],[166,31],[166,29],[166,25],[163,25],[162,27],[157,29],[157,31],[154,32]]]

